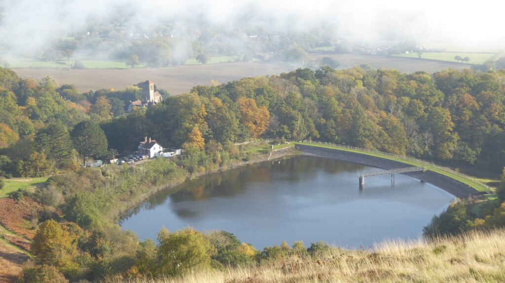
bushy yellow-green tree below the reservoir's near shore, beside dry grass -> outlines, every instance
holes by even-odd
[[[210,267],[210,244],[200,232],[186,228],[170,233],[163,228],[158,241],[159,274],[180,275]]]

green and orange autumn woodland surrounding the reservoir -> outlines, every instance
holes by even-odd
[[[498,171],[505,165],[503,78],[503,71],[447,69],[428,75],[361,67],[300,68],[279,76],[198,86],[185,95],[166,96],[149,109],[125,113],[126,101],[141,95],[136,86],[79,94],[73,86],[58,86],[49,78],[23,80],[0,68],[0,173],[58,173],[45,187],[17,194],[20,201],[24,194],[44,205],[34,216],[40,225],[32,253],[45,264],[27,267],[25,281],[37,281],[37,274],[44,272],[63,281],[180,274],[187,266],[222,268],[324,251],[322,243],[258,251],[226,232],[204,235],[191,229],[162,230],[158,243],[140,242],[112,225],[108,214],[153,186],[246,160],[248,155],[236,144],[263,137],[317,139]],[[86,152],[82,139],[95,135],[97,144],[88,149],[100,151]],[[144,136],[186,153],[175,160],[148,162],[143,170],[128,165],[79,167],[82,159],[105,157],[107,150],[131,153]],[[437,226],[451,231],[498,226],[501,203],[500,191],[494,204],[471,217],[470,206],[453,204],[434,219],[430,231],[440,231]]]

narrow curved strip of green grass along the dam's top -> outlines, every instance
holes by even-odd
[[[327,149],[335,149],[335,150],[341,150],[341,151],[347,151],[347,152],[354,152],[354,153],[384,158],[384,159],[388,159],[388,160],[393,160],[393,161],[409,164],[412,166],[424,167],[425,170],[430,170],[430,171],[433,171],[433,172],[438,173],[440,175],[444,175],[449,178],[460,181],[463,184],[466,184],[466,185],[474,188],[477,191],[485,192],[485,191],[490,190],[488,187],[482,185],[482,183],[476,181],[473,178],[460,175],[456,172],[452,172],[452,171],[443,169],[443,168],[435,166],[435,165],[429,165],[429,164],[426,164],[424,162],[421,162],[421,161],[415,160],[415,159],[407,160],[407,159],[399,158],[399,157],[392,156],[392,155],[386,155],[386,154],[377,153],[377,152],[368,152],[368,151],[364,151],[364,150],[360,150],[360,149],[347,149],[347,148],[340,148],[340,147],[327,146],[327,145],[317,145],[317,144],[310,144],[310,143],[295,143],[295,144],[312,146],[312,147],[321,147],[321,148],[327,148]]]

